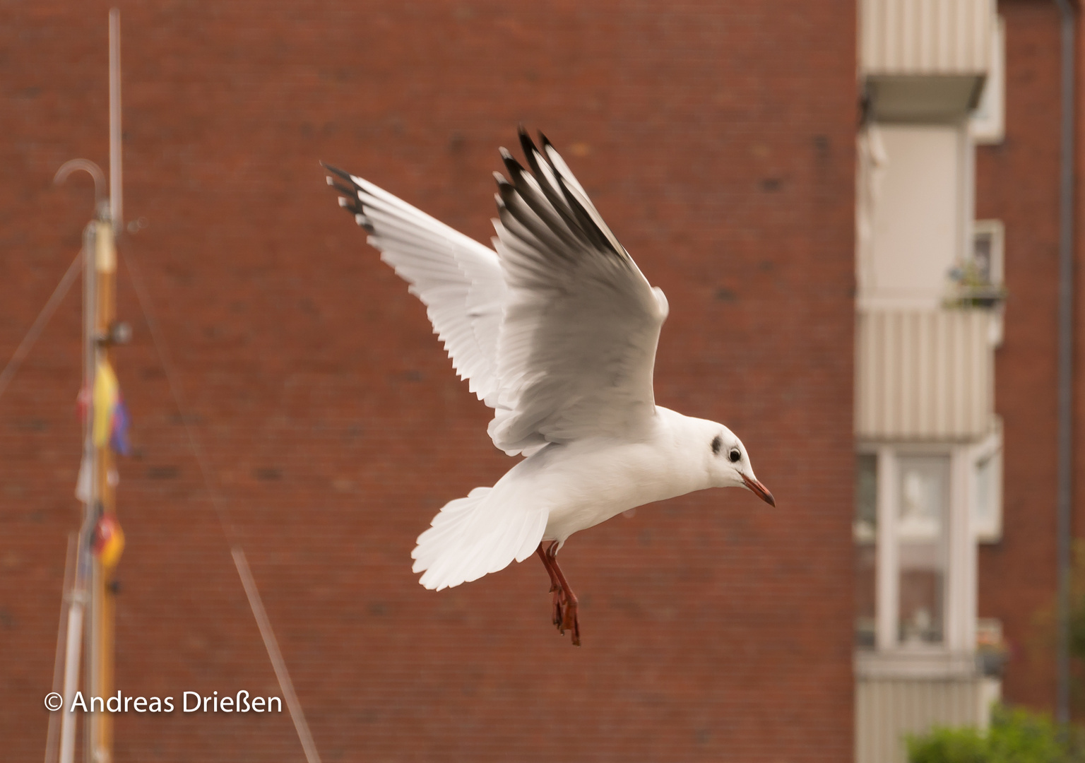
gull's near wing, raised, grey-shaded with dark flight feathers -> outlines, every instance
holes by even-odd
[[[489,434],[510,455],[627,434],[655,409],[663,292],[652,289],[545,137],[526,132],[528,173],[501,150],[494,240],[509,293]]]

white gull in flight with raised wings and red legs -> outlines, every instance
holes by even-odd
[[[541,149],[521,127],[531,171],[501,149],[509,178],[495,173],[494,249],[326,167],[340,205],[425,304],[458,374],[494,409],[494,444],[524,457],[493,487],[441,509],[418,537],[413,571],[441,590],[537,554],[553,623],[579,646],[577,599],[558,567],[570,535],[709,487],[776,501],[729,429],[655,405],[666,297],[539,138]]]

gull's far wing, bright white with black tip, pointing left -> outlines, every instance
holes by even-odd
[[[497,336],[506,285],[494,250],[446,226],[387,191],[328,167],[340,205],[369,231],[381,259],[425,304],[434,333],[460,378],[494,407],[499,389]]]

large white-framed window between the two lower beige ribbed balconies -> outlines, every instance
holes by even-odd
[[[971,443],[860,444],[852,534],[864,659],[975,649],[976,544],[1000,525],[1000,428]]]

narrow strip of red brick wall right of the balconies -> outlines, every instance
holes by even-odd
[[[996,354],[995,407],[1005,422],[1004,533],[980,551],[980,615],[1003,621],[1011,661],[1007,700],[1055,704],[1057,335],[1060,43],[1055,3],[998,3],[1006,18],[1006,140],[976,157],[976,217],[1006,225],[1006,334]],[[1081,39],[1081,30],[1078,39]],[[1081,67],[1078,67],[1081,69]],[[1085,77],[1078,73],[1078,98]],[[1081,103],[1081,101],[1078,101]],[[1078,116],[1078,144],[1085,140]],[[1078,151],[1078,153],[1081,153]],[[1078,208],[1081,195],[1078,191]],[[1081,216],[1078,215],[1078,219]],[[1078,225],[1077,239],[1083,229]],[[1077,293],[1085,289],[1077,246]],[[1078,305],[1081,298],[1077,300]],[[1077,399],[1085,332],[1077,332]],[[1078,403],[1077,410],[1081,410]],[[1085,419],[1077,417],[1077,429]],[[1085,466],[1076,437],[1077,463]],[[1081,472],[1081,468],[1077,470]],[[1077,481],[1077,495],[1081,495]],[[1075,506],[1081,507],[1081,500]],[[1080,513],[1080,508],[1078,508]],[[1081,519],[1075,524],[1081,526]]]

